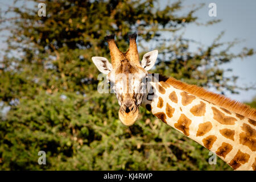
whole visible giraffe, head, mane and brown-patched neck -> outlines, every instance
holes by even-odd
[[[129,36],[129,49],[123,53],[114,35],[106,36],[112,64],[105,57],[92,57],[117,96],[121,122],[133,125],[143,106],[233,169],[256,171],[256,110],[199,86],[148,73],[158,51],[147,52],[140,62],[136,38]]]

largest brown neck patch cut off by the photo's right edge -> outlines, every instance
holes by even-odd
[[[256,151],[256,130],[246,123],[243,123],[242,130],[245,132],[239,135],[240,143]]]

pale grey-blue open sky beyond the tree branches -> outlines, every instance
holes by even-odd
[[[1,0],[0,6],[11,5],[13,0]],[[166,1],[160,0],[160,7],[164,7],[168,4],[171,5],[172,2],[176,1]],[[232,52],[238,53],[243,47],[254,48],[256,51],[256,1],[251,0],[184,0],[183,5],[191,7],[191,5],[199,5],[200,3],[205,3],[203,8],[196,11],[195,15],[198,16],[198,22],[207,22],[209,20],[221,19],[220,23],[213,24],[211,26],[196,26],[188,25],[185,30],[184,37],[201,42],[204,45],[209,45],[213,42],[221,31],[225,31],[222,37],[222,42],[229,42],[238,38],[243,40],[242,43],[238,44],[232,49]],[[217,5],[217,16],[210,17],[208,15],[209,3],[216,3]],[[7,6],[6,6],[7,7]],[[186,12],[184,12],[186,13]],[[6,47],[2,43],[3,35],[0,34],[0,49]],[[192,47],[193,48],[193,47]],[[1,52],[0,52],[1,56]],[[225,64],[222,68],[232,68],[233,72],[229,75],[239,76],[237,85],[238,86],[256,86],[256,55],[247,57],[243,60],[235,59],[231,63]],[[227,75],[227,76],[229,76]],[[232,98],[233,100],[238,100],[241,102],[251,101],[254,96],[256,96],[256,90],[240,91],[240,94],[226,93],[226,96]]]

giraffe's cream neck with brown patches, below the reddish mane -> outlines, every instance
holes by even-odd
[[[256,170],[255,121],[177,89],[150,82],[142,106],[188,138],[214,152],[233,169]]]

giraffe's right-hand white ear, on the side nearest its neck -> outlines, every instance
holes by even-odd
[[[150,51],[144,54],[141,61],[141,66],[146,71],[150,70],[155,65],[156,57],[158,57],[158,50]]]

